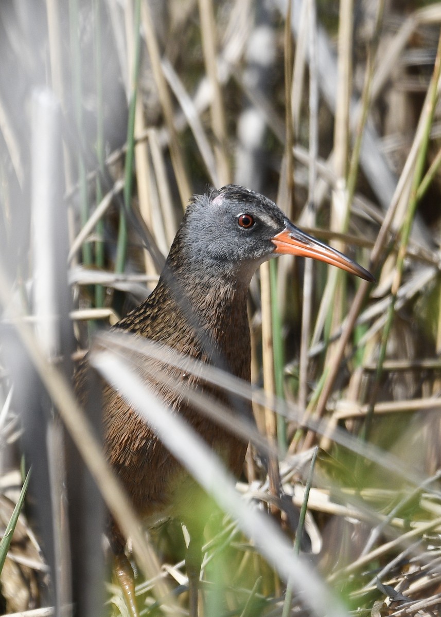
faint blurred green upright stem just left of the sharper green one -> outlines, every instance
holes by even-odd
[[[104,170],[104,123],[103,123],[103,58],[102,58],[102,36],[101,36],[101,2],[93,0],[94,18],[96,23],[96,47],[95,47],[95,72],[96,72],[96,156],[101,172]],[[96,176],[96,205],[103,199],[100,175]],[[104,268],[104,222],[99,220],[96,225],[96,234],[99,240],[95,242],[95,265],[99,269]],[[104,306],[104,287],[95,285],[95,306]]]

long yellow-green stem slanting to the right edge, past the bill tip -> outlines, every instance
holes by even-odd
[[[418,156],[415,162],[415,168],[412,179],[412,186],[410,192],[409,203],[406,211],[406,217],[401,227],[401,239],[400,246],[398,248],[397,265],[395,267],[395,276],[392,281],[390,304],[387,309],[387,319],[382,333],[381,346],[379,351],[379,357],[377,362],[377,370],[375,376],[375,384],[371,392],[371,403],[369,405],[368,413],[366,414],[366,420],[364,422],[363,439],[369,439],[369,433],[372,424],[372,418],[374,416],[375,404],[377,398],[377,392],[379,389],[380,378],[383,372],[383,363],[386,355],[387,341],[389,340],[389,334],[392,329],[393,315],[395,313],[395,302],[397,302],[398,290],[400,289],[401,278],[403,277],[404,261],[406,257],[406,251],[409,244],[410,233],[412,230],[412,223],[416,212],[416,206],[418,205],[419,186],[421,185],[422,174],[424,172],[424,165],[427,159],[427,147],[429,146],[429,140],[431,137],[431,128],[435,114],[435,107],[438,99],[438,85],[441,73],[441,35],[438,41],[437,56],[435,59],[434,73],[432,75],[430,93],[427,97],[427,118],[424,126],[424,132],[421,139],[421,144],[418,151]],[[424,113],[424,110],[422,111]]]

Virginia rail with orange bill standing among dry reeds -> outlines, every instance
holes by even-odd
[[[294,226],[274,202],[229,185],[191,199],[156,289],[114,327],[162,342],[250,381],[248,286],[261,263],[281,254],[313,257],[374,280],[357,263]],[[187,387],[198,387],[227,405],[232,414],[251,418],[249,403],[232,399],[202,379],[188,378],[172,368],[166,370],[182,383],[183,392]],[[149,385],[166,405],[186,418],[238,476],[247,445],[191,408],[182,392],[170,391],[159,380],[152,383],[150,379]],[[203,523],[193,514],[195,482],[110,386],[104,388],[104,434],[112,468],[146,524],[177,518],[187,526],[190,613],[197,615]],[[130,611],[137,615],[125,539],[114,522],[110,540],[115,573]]]

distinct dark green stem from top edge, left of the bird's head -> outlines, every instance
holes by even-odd
[[[132,201],[132,181],[133,181],[133,166],[135,154],[135,112],[136,112],[136,94],[138,92],[138,78],[140,68],[140,36],[141,23],[141,0],[135,0],[133,36],[134,50],[133,67],[132,67],[132,92],[130,94],[130,104],[128,107],[128,125],[127,125],[127,152],[125,155],[124,168],[124,209],[119,213],[119,230],[117,239],[117,252],[115,260],[115,271],[117,273],[124,272],[125,259],[127,255],[127,217],[126,212],[130,210]]]

